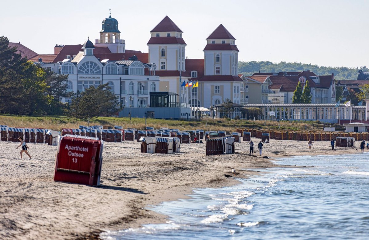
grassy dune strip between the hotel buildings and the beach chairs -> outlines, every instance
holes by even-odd
[[[289,129],[289,130],[314,130],[317,127],[315,122],[289,122],[289,121],[262,121],[262,120],[228,120],[228,119],[202,119],[201,121],[186,120],[162,120],[147,119],[147,126],[160,129],[160,127],[178,128],[179,130],[225,130],[227,133],[235,131],[236,128],[269,128],[269,129]],[[11,116],[0,115],[0,125],[10,127],[32,127],[47,128],[59,131],[61,128],[78,128],[79,125],[88,125],[87,121],[66,116]],[[145,129],[145,119],[129,117],[97,117],[90,120],[91,125],[122,126]],[[314,126],[313,126],[314,125]]]

